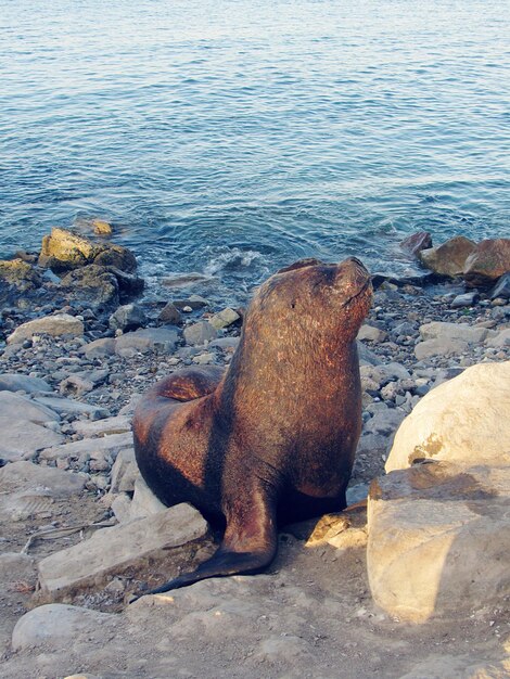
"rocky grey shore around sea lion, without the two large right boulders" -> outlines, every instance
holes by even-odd
[[[378,599],[374,576],[370,592],[362,508],[283,531],[267,575],[205,581],[126,608],[142,582],[202,560],[215,539],[197,512],[165,511],[144,487],[133,407],[173,370],[227,366],[243,309],[216,307],[214,296],[196,294],[193,277],[145,299],[133,254],[103,240],[104,222],[90,226],[94,234],[54,229],[40,253],[0,261],[5,676],[195,677],[207,668],[229,677],[468,677],[479,675],[467,667],[501,663],[510,592],[499,590],[497,611],[492,600],[471,618],[446,607],[423,618],[426,633],[415,631],[385,594]],[[384,474],[395,433],[426,395],[470,367],[508,366],[510,241],[467,241],[432,247],[430,235],[415,234],[403,247],[429,267],[423,277],[374,278],[358,336],[364,432],[350,502]],[[490,380],[497,395],[499,377]],[[462,393],[448,398],[462,406]],[[508,524],[500,528],[507,535]],[[420,664],[428,669],[412,674]]]

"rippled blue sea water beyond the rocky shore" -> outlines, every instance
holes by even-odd
[[[111,221],[152,282],[510,233],[496,0],[0,0],[0,257]]]

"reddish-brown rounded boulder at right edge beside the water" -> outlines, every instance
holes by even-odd
[[[463,268],[466,283],[472,287],[494,285],[507,271],[510,271],[510,239],[481,241]]]

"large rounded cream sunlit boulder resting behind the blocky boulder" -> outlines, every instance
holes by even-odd
[[[510,361],[480,363],[429,392],[398,428],[386,472],[433,458],[510,464]]]

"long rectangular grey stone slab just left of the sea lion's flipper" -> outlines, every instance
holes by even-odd
[[[153,568],[157,562],[171,572],[174,553],[189,543],[196,546],[206,536],[206,522],[189,504],[104,528],[39,562],[39,595],[55,601],[104,585],[113,574],[120,576],[149,564]]]

